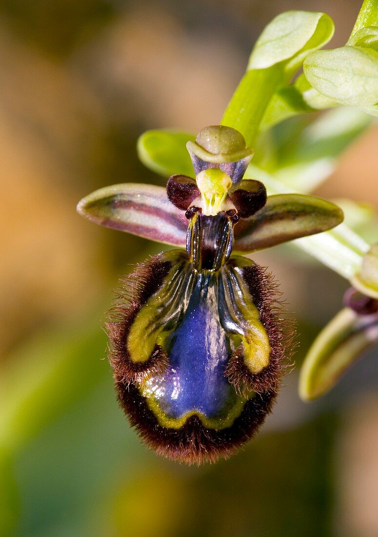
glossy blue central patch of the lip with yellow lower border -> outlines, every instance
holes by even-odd
[[[231,426],[244,400],[224,375],[229,341],[218,314],[217,284],[198,276],[182,321],[164,344],[169,366],[147,379],[141,390],[159,424],[182,426],[198,415],[207,426]]]

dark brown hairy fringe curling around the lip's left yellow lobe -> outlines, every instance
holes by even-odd
[[[159,287],[171,270],[172,263],[164,261],[164,254],[151,257],[137,265],[136,270],[121,279],[121,287],[116,291],[112,309],[108,311],[106,329],[109,336],[109,362],[114,372],[125,383],[142,380],[146,375],[159,373],[167,367],[168,361],[159,345],[155,346],[150,358],[145,362],[132,362],[127,349],[127,338],[135,317]]]

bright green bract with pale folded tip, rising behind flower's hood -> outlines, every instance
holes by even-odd
[[[273,19],[256,42],[222,124],[238,129],[250,145],[260,129],[311,111],[300,93],[287,86],[305,57],[325,45],[333,30],[325,13],[287,11]]]

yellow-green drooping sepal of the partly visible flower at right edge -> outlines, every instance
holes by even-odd
[[[360,354],[378,342],[378,315],[342,309],[315,339],[303,362],[299,394],[304,401],[329,391]]]

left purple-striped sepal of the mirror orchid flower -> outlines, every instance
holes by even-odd
[[[100,188],[79,201],[77,212],[106,228],[185,246],[188,221],[162,186],[125,183]]]

